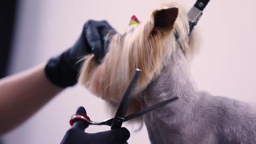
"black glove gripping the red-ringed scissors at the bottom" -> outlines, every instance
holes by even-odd
[[[76,113],[86,115],[85,108],[78,108]],[[84,121],[74,121],[72,128],[66,132],[61,144],[127,144],[126,141],[130,137],[130,132],[126,128],[88,134],[84,132],[87,126]]]

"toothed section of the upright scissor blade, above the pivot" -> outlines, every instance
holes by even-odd
[[[131,101],[132,96],[134,95],[136,85],[138,83],[139,75],[141,73],[140,69],[135,69],[135,72],[133,74],[133,77],[131,79],[130,84],[128,85],[128,88],[125,91],[125,94],[121,100],[121,105],[119,105],[118,110],[116,112],[115,116],[124,118],[126,111],[128,109],[129,103]]]

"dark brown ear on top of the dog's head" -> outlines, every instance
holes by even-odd
[[[170,30],[173,29],[174,22],[178,17],[179,9],[176,7],[156,10],[153,12],[154,29]]]

